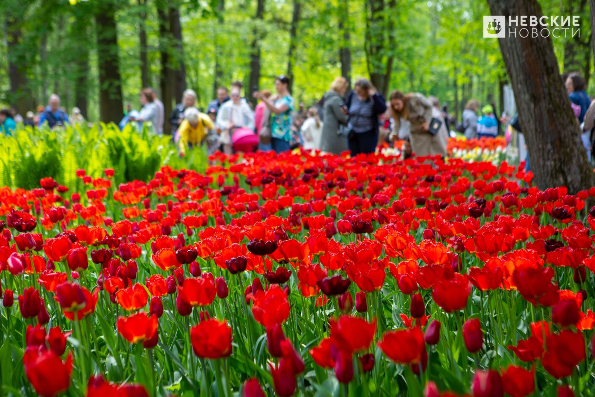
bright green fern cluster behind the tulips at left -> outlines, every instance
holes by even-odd
[[[195,148],[180,158],[169,136],[155,136],[146,129],[137,132],[128,125],[123,131],[113,123],[67,126],[49,130],[19,127],[12,136],[0,135],[0,186],[39,187],[43,177],[53,177],[71,190],[82,183],[76,170],[92,177],[114,168],[114,183],[149,180],[161,165],[173,168],[206,169],[204,148]]]

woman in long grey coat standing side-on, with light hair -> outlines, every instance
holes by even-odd
[[[339,135],[339,126],[345,126],[349,116],[341,111],[344,104],[343,95],[347,89],[347,80],[337,77],[331,84],[330,90],[324,94],[324,124],[320,149],[323,152],[340,154],[347,150],[347,138]]]

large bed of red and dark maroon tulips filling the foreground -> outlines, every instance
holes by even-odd
[[[0,395],[595,389],[595,189],[506,163],[211,160],[0,188]]]

